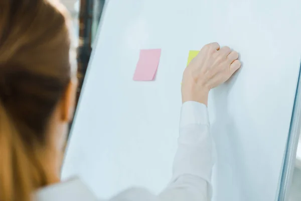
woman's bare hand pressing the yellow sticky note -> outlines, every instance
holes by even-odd
[[[207,106],[209,90],[227,81],[240,68],[238,53],[218,43],[205,45],[183,73],[182,103],[196,101]]]

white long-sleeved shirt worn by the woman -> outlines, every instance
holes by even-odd
[[[170,184],[159,194],[130,188],[108,201],[207,201],[211,199],[213,143],[207,107],[197,102],[182,105],[178,150]],[[50,185],[35,193],[36,201],[99,201],[79,179]]]

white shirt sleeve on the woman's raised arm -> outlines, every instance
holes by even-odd
[[[128,189],[111,201],[207,201],[211,199],[213,143],[207,107],[197,102],[182,105],[178,150],[173,178],[158,196],[145,189]]]

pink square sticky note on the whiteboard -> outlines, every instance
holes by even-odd
[[[161,49],[140,50],[133,80],[152,81],[155,79],[159,66]]]

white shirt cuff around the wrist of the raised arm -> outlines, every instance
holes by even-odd
[[[206,105],[194,101],[188,101],[182,105],[180,128],[191,124],[209,125]]]

